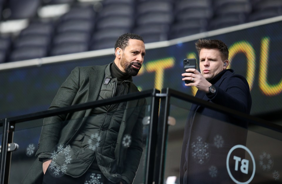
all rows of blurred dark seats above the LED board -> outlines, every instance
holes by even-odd
[[[38,10],[67,4],[57,17]],[[282,15],[281,0],[0,0],[0,24],[28,19],[20,32],[0,34],[0,63],[113,48],[126,32],[145,43]],[[25,28],[26,27],[26,28]],[[8,35],[8,36],[7,36]],[[34,53],[33,53],[34,52]]]

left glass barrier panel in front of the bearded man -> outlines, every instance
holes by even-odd
[[[9,183],[21,183],[24,178],[28,183],[36,177],[34,173],[40,176],[38,170],[42,170],[42,162],[38,161],[38,153],[41,153],[39,158],[43,161],[52,159],[46,171],[48,177],[77,177],[86,172],[83,175],[85,184],[105,183],[103,175],[112,178],[115,183],[115,175],[121,177],[120,173],[126,169],[138,168],[134,183],[144,183],[151,98],[147,98],[147,105],[144,106],[126,108],[125,103],[113,104],[112,111],[99,113],[104,107],[95,108],[84,118],[44,126],[43,119],[17,123],[13,142],[19,144],[19,149],[12,152]],[[54,117],[44,121],[52,121]],[[83,122],[81,127],[80,122]],[[77,128],[74,130],[73,127]],[[44,133],[41,134],[41,131]],[[45,137],[38,148],[39,137],[42,135]],[[69,142],[70,138],[72,141]],[[54,140],[57,140],[56,144]],[[60,144],[62,142],[66,144]],[[133,180],[134,173],[128,173],[128,177]]]

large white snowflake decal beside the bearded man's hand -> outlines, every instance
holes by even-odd
[[[70,145],[66,146],[65,148],[63,147],[63,145],[58,146],[57,151],[53,151],[52,153],[52,160],[54,160],[54,162],[52,161],[48,167],[49,172],[53,175],[53,177],[61,177],[64,173],[66,173],[66,170],[68,169],[68,164],[70,163],[71,156],[69,155],[70,153]],[[63,154],[64,157],[66,158],[63,165],[59,166],[57,165],[55,162],[58,159],[57,156],[58,154]]]

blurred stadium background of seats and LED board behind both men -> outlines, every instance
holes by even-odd
[[[0,0],[0,14],[0,119],[47,110],[73,68],[112,62],[114,43],[126,32],[145,41],[145,61],[133,78],[140,90],[169,87],[195,94],[181,80],[183,59],[198,61],[197,39],[220,39],[229,46],[229,68],[249,82],[251,115],[281,111],[281,0]],[[189,107],[172,103],[170,116],[177,123],[168,131],[165,177],[179,174]],[[268,120],[282,125],[281,118]],[[11,183],[19,183],[33,163],[26,149],[36,147],[42,123],[17,124],[14,141],[20,148],[13,153]],[[249,143],[257,153],[272,146],[262,138]],[[277,150],[271,153],[281,160]]]

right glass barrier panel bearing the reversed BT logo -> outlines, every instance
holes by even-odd
[[[190,107],[173,102],[164,183],[282,182],[282,133],[252,125],[246,129],[246,121],[232,118],[233,124],[200,113],[187,120]]]

